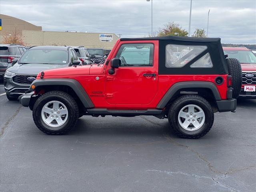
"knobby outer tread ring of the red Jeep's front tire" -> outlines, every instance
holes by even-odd
[[[38,106],[38,104],[48,95],[51,95],[51,94],[58,94],[58,96],[61,96],[61,97],[64,97],[66,99],[68,99],[71,103],[72,103],[72,106],[74,107],[74,111],[75,111],[75,120],[72,122],[72,124],[66,128],[65,130],[63,131],[60,131],[60,132],[51,132],[51,131],[47,131],[45,130],[44,128],[41,127],[40,123],[38,123],[37,121],[37,118],[36,118],[36,113],[34,112],[34,108],[36,108]],[[36,100],[36,103],[34,104],[34,107],[33,107],[33,120],[36,124],[36,126],[38,127],[38,129],[42,132],[44,132],[45,134],[48,134],[48,135],[63,135],[63,134],[66,134],[68,131],[70,131],[76,124],[77,122],[77,119],[78,119],[78,116],[79,116],[79,109],[78,109],[78,105],[76,103],[76,101],[74,100],[74,98],[72,96],[70,96],[69,94],[67,94],[66,92],[62,92],[62,91],[50,91],[50,92],[47,92],[45,94],[43,94],[42,96],[40,96],[38,98],[38,100]]]

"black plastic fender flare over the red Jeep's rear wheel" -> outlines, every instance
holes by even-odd
[[[160,102],[158,102],[156,108],[162,109],[166,106],[166,104],[170,101],[172,96],[180,90],[184,88],[208,88],[212,91],[215,100],[221,100],[220,93],[218,92],[217,87],[212,82],[205,82],[205,81],[185,81],[185,82],[178,82],[172,85],[169,90],[164,94]]]

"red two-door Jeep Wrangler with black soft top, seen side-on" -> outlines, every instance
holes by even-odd
[[[83,115],[150,115],[195,139],[210,130],[214,112],[236,110],[237,63],[227,62],[220,38],[121,38],[104,64],[39,73],[20,102],[46,134],[66,133]]]

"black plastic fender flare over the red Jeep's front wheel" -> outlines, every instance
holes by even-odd
[[[74,79],[68,79],[68,78],[56,78],[56,79],[38,79],[34,80],[31,84],[31,86],[34,85],[35,88],[38,86],[52,86],[52,85],[59,85],[59,86],[69,86],[74,90],[78,98],[81,100],[82,104],[85,108],[92,108],[94,107],[94,104],[92,103],[90,97],[82,87],[82,85]],[[29,91],[34,91],[32,87],[30,86]]]

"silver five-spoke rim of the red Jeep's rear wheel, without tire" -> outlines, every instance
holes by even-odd
[[[182,128],[188,131],[200,129],[205,121],[205,114],[202,108],[197,105],[186,105],[178,114],[178,122]]]

